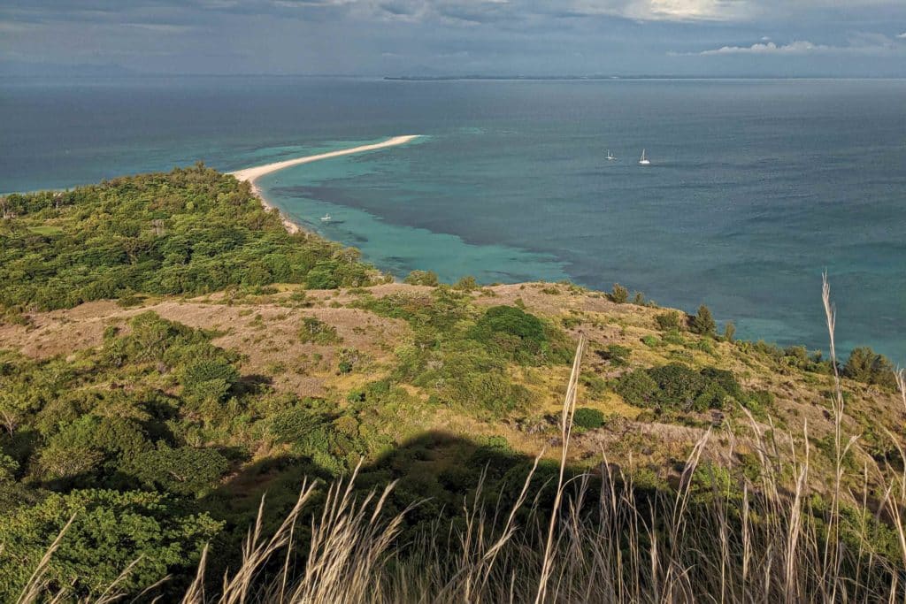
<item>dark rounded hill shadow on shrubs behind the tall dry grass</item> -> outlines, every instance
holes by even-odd
[[[354,463],[355,460],[350,460],[351,465]],[[478,440],[429,431],[362,465],[354,488],[361,499],[371,491],[382,492],[395,481],[383,513],[390,516],[409,509],[402,527],[406,533],[459,522],[464,505],[471,507],[474,503],[491,513],[495,510],[508,513],[534,463],[534,457],[516,453],[502,438]],[[530,505],[550,507],[558,472],[559,465],[553,461],[538,464],[529,488]],[[579,473],[577,468],[568,468],[567,477]],[[342,477],[351,474],[352,469]],[[265,502],[263,532],[270,534],[292,510],[304,481],[315,478],[322,484],[331,484],[337,476],[313,459],[286,452],[243,466],[226,484],[198,501],[200,508],[226,523],[217,543],[212,544],[211,568],[235,567],[239,544],[255,523],[262,498]],[[479,484],[481,490],[477,492]],[[319,489],[309,503],[309,513],[320,509],[323,491]],[[591,499],[594,501],[596,497]],[[301,523],[304,524],[307,521]],[[300,528],[301,533],[306,530]],[[441,539],[451,538],[446,530],[441,532]]]

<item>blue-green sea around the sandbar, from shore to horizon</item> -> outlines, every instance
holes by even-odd
[[[422,134],[262,185],[398,275],[619,281],[813,349],[826,269],[840,347],[906,363],[906,81],[6,80],[0,117],[0,191]]]

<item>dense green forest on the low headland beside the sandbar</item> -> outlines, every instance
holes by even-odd
[[[286,233],[246,184],[198,165],[3,198],[0,305],[68,308],[136,293],[371,282],[354,250]]]

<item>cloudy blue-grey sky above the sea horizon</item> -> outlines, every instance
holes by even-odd
[[[906,0],[0,0],[0,75],[906,77]]]

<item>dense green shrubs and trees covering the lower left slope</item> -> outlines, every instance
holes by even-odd
[[[224,527],[210,515],[224,517],[220,479],[256,446],[291,444],[313,475],[339,475],[386,444],[360,430],[354,409],[244,381],[236,354],[210,338],[142,313],[127,333],[108,330],[101,350],[70,360],[0,356],[0,501],[20,510],[0,520],[0,599],[72,513],[72,537],[84,535],[54,558],[54,584],[98,595],[140,554],[130,585],[144,588],[197,563]]]

